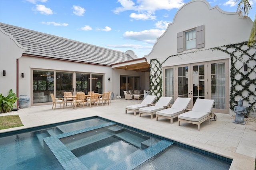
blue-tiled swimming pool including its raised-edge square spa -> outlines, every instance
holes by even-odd
[[[2,169],[229,169],[232,162],[100,117],[0,137]]]

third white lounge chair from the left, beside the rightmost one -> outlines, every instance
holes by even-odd
[[[181,113],[188,108],[188,105],[191,102],[191,98],[177,98],[172,105],[171,108],[160,110],[156,112],[156,121],[158,121],[158,117],[163,117],[166,119],[170,119],[171,124],[175,117],[178,117]]]

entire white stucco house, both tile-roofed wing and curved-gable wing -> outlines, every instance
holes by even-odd
[[[218,113],[234,114],[239,99],[256,111],[256,45],[248,47],[250,18],[192,0],[175,14],[152,51],[114,51],[0,23],[0,92],[49,104],[64,91],[150,90],[158,96],[214,99]],[[246,68],[246,69],[245,69]],[[38,97],[40,93],[40,97]],[[37,94],[37,95],[35,95]]]

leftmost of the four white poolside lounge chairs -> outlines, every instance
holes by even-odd
[[[148,105],[152,105],[155,100],[156,100],[156,96],[148,95],[140,104],[126,106],[125,113],[127,113],[127,110],[134,111],[134,115],[136,115],[136,112],[139,111],[140,108],[147,107]]]

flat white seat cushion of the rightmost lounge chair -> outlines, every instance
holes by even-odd
[[[178,115],[178,118],[188,120],[188,121],[200,121],[208,117],[207,112],[198,112],[198,111],[188,111]]]

